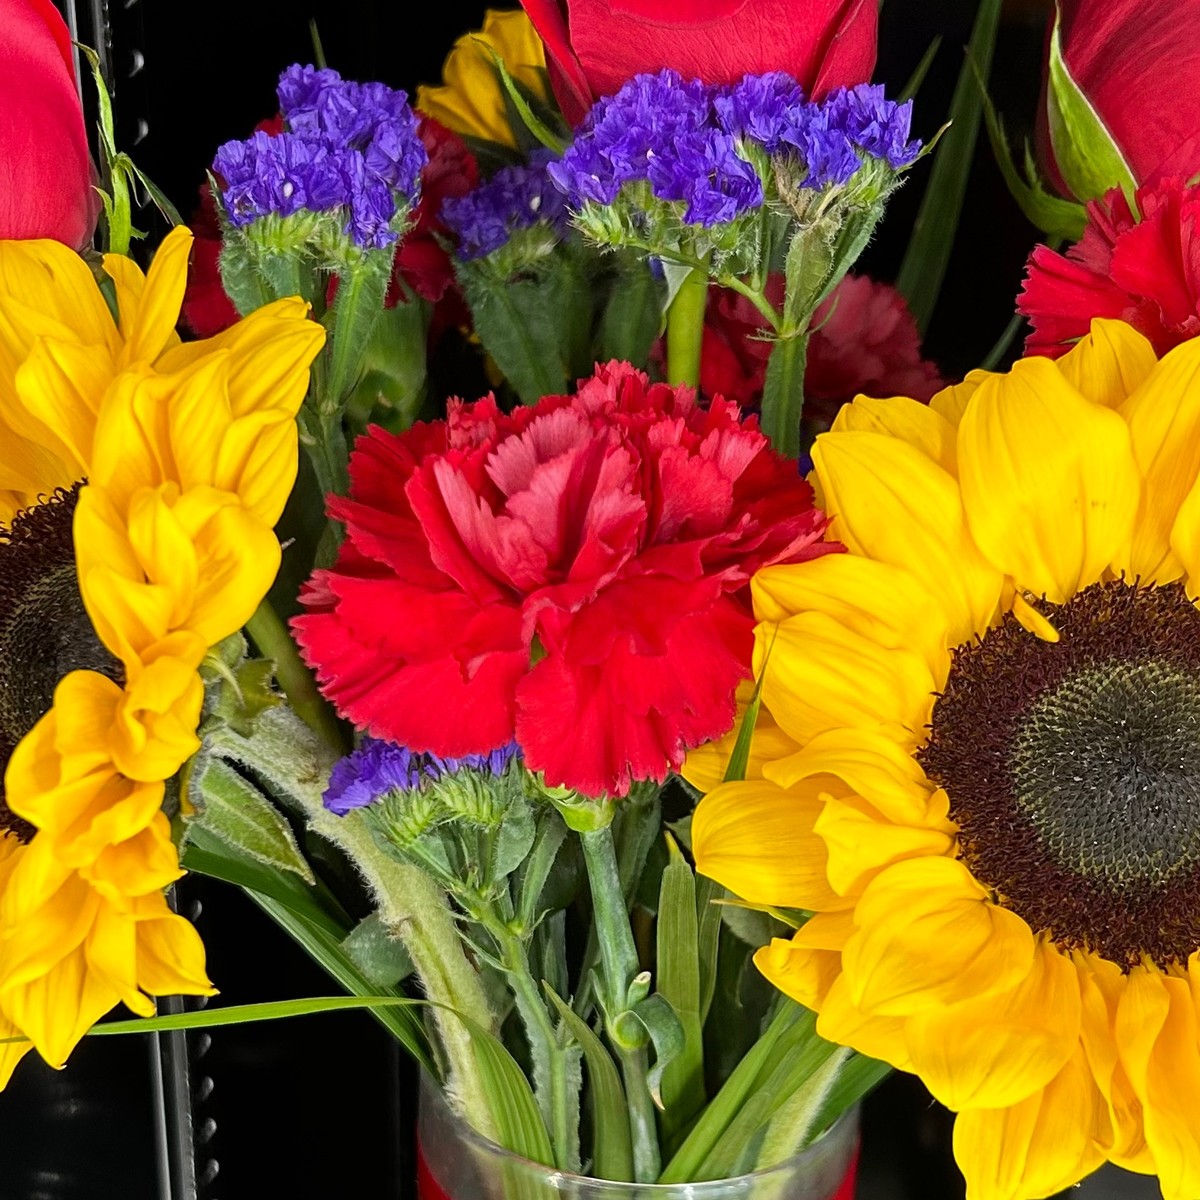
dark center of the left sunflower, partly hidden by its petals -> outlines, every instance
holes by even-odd
[[[0,526],[0,829],[20,836],[32,829],[5,804],[2,787],[17,743],[49,710],[65,674],[121,679],[79,595],[71,534],[78,492],[55,492]]]

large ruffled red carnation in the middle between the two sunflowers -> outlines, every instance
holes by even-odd
[[[372,428],[330,512],[347,540],[293,624],[338,712],[442,756],[516,738],[587,796],[726,732],[750,576],[838,548],[754,420],[624,362],[508,415]]]

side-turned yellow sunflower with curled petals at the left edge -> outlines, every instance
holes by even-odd
[[[163,888],[164,781],[196,752],[208,649],[275,577],[295,414],[324,334],[299,299],[180,344],[191,235],[108,294],[0,242],[0,1086],[119,1001],[211,992]],[[118,313],[113,317],[113,310]]]

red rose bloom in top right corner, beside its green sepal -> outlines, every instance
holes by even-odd
[[[1060,0],[1060,10],[1067,67],[1134,179],[1200,170],[1200,0]]]

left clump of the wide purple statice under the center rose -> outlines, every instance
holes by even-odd
[[[686,202],[690,223],[732,221],[762,203],[762,186],[720,126],[715,95],[677,71],[634,76],[593,107],[551,179],[576,206],[611,204],[644,180],[659,199]]]

